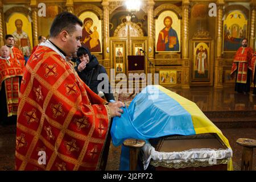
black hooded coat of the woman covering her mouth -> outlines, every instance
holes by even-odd
[[[81,72],[77,70],[77,67],[80,63],[81,61],[77,59],[76,60],[77,66],[75,67],[75,69],[79,77],[82,79],[82,81],[84,81],[85,84],[88,85],[89,88],[93,90],[94,93],[98,94],[99,91],[102,91],[108,102],[110,100],[114,100],[113,93],[110,92],[111,88],[109,84],[109,79],[108,79],[108,92],[104,92],[104,86],[102,87],[102,89],[99,89],[99,90],[97,89],[98,84],[100,84],[101,81],[104,81],[104,78],[102,78],[102,80],[97,80],[98,75],[100,75],[100,73],[106,73],[106,69],[98,63],[97,57],[92,55],[89,63],[86,64],[85,69]]]

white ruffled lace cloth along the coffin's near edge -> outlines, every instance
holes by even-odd
[[[214,162],[214,159],[229,159],[232,158],[233,151],[228,149],[212,149],[212,148],[193,148],[191,150],[181,152],[158,152],[151,146],[150,143],[146,143],[142,147],[143,151],[143,164],[144,169],[147,169],[150,160],[164,161],[166,163],[179,163],[179,162],[193,162],[195,160],[204,162]]]

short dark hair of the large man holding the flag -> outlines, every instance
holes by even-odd
[[[82,21],[77,18],[76,15],[64,11],[63,13],[58,14],[53,20],[49,36],[54,38],[63,30],[72,34],[75,31],[76,24],[79,24],[82,27]]]

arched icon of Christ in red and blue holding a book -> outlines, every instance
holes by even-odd
[[[156,52],[179,52],[180,21],[178,21],[177,15],[172,11],[164,11],[162,14],[160,14],[158,20],[156,20],[156,26],[163,27],[164,24],[164,28],[156,30],[156,36],[158,35],[158,37],[156,37]],[[175,23],[175,26],[173,23]]]

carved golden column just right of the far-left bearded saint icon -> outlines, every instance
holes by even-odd
[[[36,1],[30,3],[32,10],[32,32],[33,32],[33,46],[38,44],[38,7]]]

